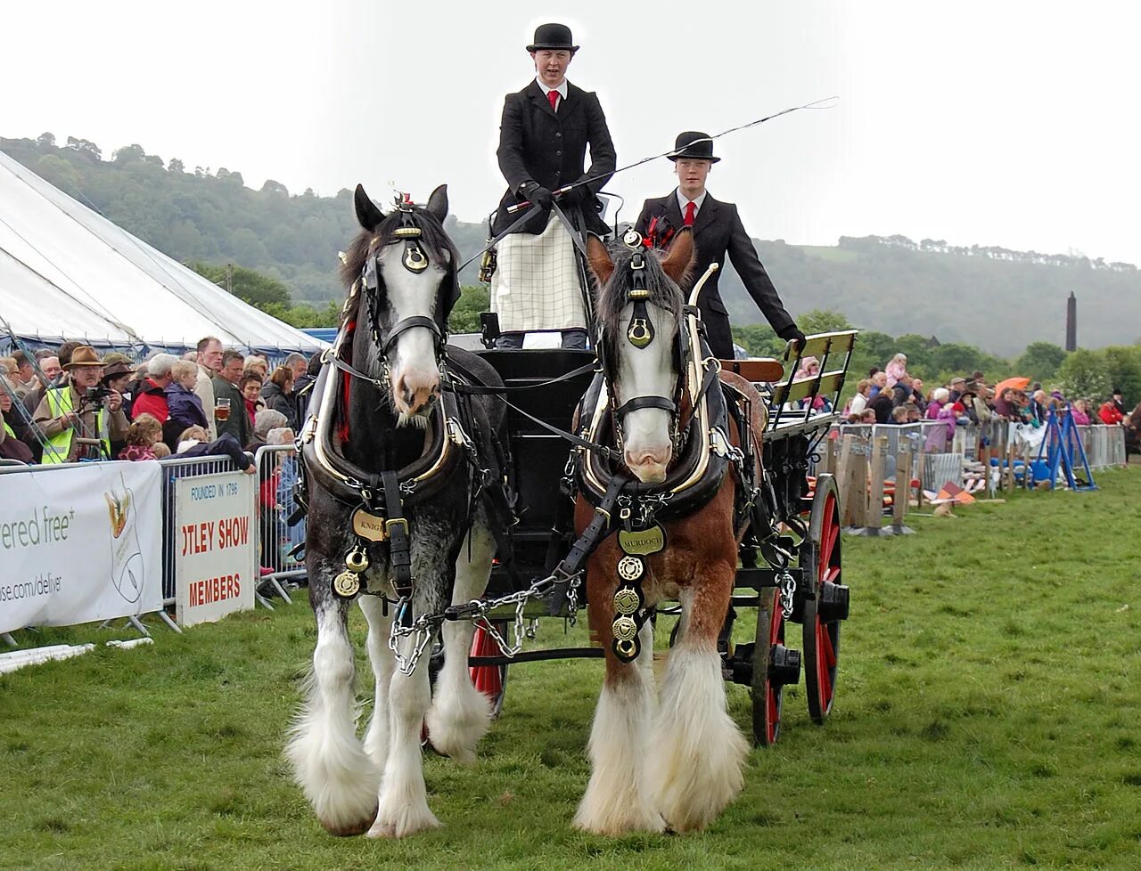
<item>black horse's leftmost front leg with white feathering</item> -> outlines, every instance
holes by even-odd
[[[313,674],[285,754],[322,824],[359,831],[377,807],[380,770],[356,738],[353,645],[337,605],[316,617]]]

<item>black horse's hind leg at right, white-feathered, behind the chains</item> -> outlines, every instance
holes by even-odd
[[[471,528],[471,559],[464,542],[455,562],[455,589],[452,604],[478,599],[487,587],[495,543],[483,526]],[[436,676],[431,709],[428,711],[428,740],[439,752],[469,763],[476,758],[476,744],[491,725],[491,702],[476,690],[468,670],[468,653],[475,626],[470,620],[445,620],[444,667]]]

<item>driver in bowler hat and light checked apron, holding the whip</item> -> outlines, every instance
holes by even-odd
[[[590,178],[557,202],[578,233],[607,233],[594,195],[614,172],[616,156],[598,97],[566,79],[577,50],[569,27],[541,25],[534,42],[527,46],[535,64],[535,80],[518,93],[509,93],[503,103],[495,154],[508,189],[492,233],[499,235],[519,219],[521,213],[509,214],[508,206],[539,204],[531,218],[500,243],[499,270],[492,284],[492,309],[500,315],[504,332],[516,333],[508,339],[519,342],[523,332],[543,328],[563,329],[565,347],[581,347],[585,341],[577,268],[573,249],[567,253],[565,230],[551,211],[552,192]],[[584,171],[588,147],[591,165]],[[559,226],[549,226],[552,223]],[[549,254],[540,253],[549,251],[550,245],[532,245],[526,238],[549,234],[558,236],[556,262],[544,260]]]

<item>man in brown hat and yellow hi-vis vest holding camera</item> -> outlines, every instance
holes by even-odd
[[[43,463],[110,459],[111,440],[127,438],[123,397],[99,384],[103,361],[90,345],[74,350],[64,383],[46,389],[35,423],[48,441]]]

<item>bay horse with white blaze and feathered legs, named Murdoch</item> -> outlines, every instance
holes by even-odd
[[[600,286],[596,317],[605,380],[599,390],[605,393],[596,402],[588,394],[578,423],[585,423],[592,439],[609,438],[621,451],[622,459],[609,471],[630,474],[633,491],[640,494],[628,503],[633,518],[639,504],[653,506],[656,500],[657,522],[642,523],[642,530],[657,535],[659,528],[664,536],[646,547],[638,527],[626,532],[628,539],[618,531],[605,538],[586,563],[590,627],[604,648],[606,674],[590,733],[590,782],[575,824],[604,835],[699,830],[741,791],[747,752],[726,709],[717,646],[744,531],[735,521],[743,465],[733,453],[741,453],[742,432],[727,413],[721,423],[711,422],[710,409],[729,401],[721,396],[721,382],[739,382],[734,386],[753,404],[752,416],[744,418],[750,439],[759,439],[762,400],[743,378],[718,373],[717,361],[693,334],[696,309],[685,306],[679,288],[694,260],[689,230],[674,237],[664,257],[644,249],[640,239],[628,238],[625,245],[607,250],[591,237],[588,260]],[[584,421],[591,414],[593,424]],[[690,420],[696,425],[690,426]],[[746,447],[755,448],[746,458],[759,473],[759,441]],[[713,478],[695,483],[693,493],[702,487],[705,493],[695,497],[691,511],[685,510],[687,491],[674,485],[696,474],[693,464],[698,461],[693,457],[699,459],[702,451]],[[736,458],[736,471],[726,456]],[[599,479],[592,499],[583,495],[590,488],[580,485],[575,523],[581,532],[600,510],[607,469],[592,455],[580,457],[580,478]],[[667,508],[674,503],[671,514]],[[623,580],[632,576],[642,600],[636,612],[631,585]],[[655,694],[649,617],[666,599],[681,603],[681,618]],[[625,629],[622,614],[634,620]],[[630,638],[634,627],[636,641]]]

